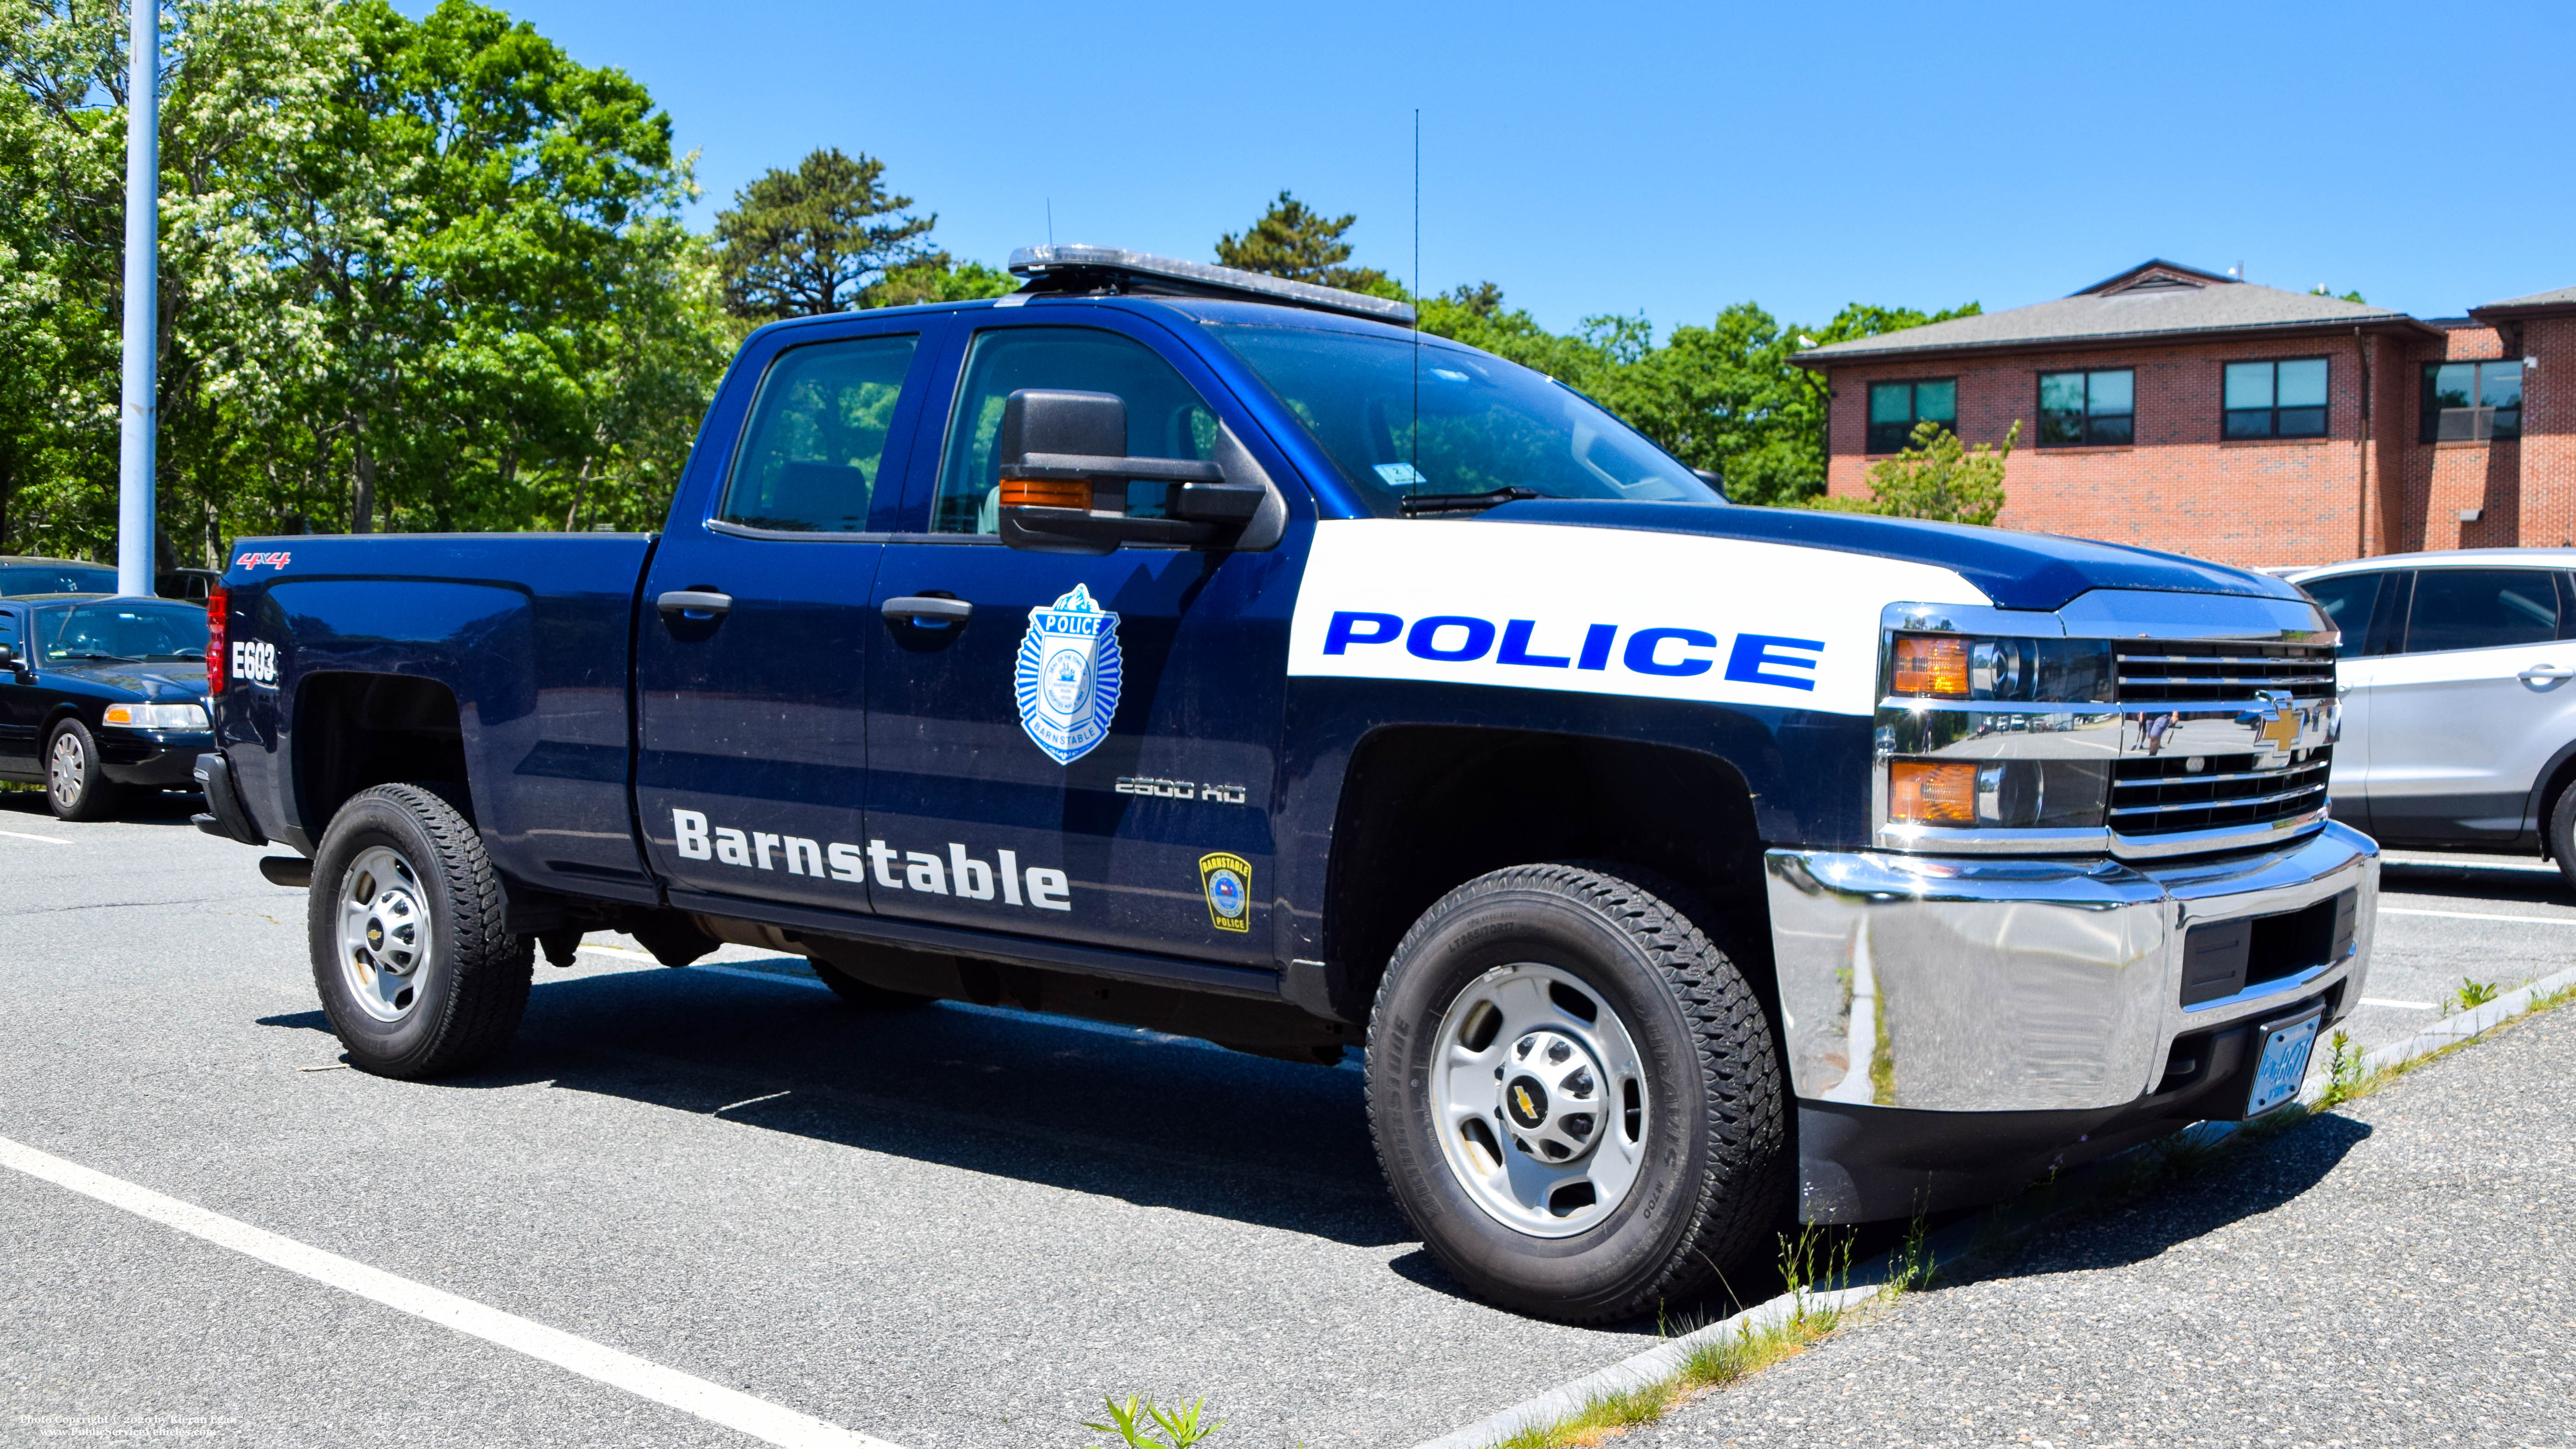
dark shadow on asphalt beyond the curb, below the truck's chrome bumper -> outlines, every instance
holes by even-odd
[[[2308,1117],[2267,1143],[2226,1150],[2202,1174],[2159,1184],[2128,1207],[2079,1215],[2056,1230],[2043,1228],[2027,1246],[1991,1266],[1971,1266],[1958,1277],[1945,1269],[1937,1287],[2143,1264],[2311,1192],[2367,1135],[2370,1125],[2352,1117],[2334,1112]]]

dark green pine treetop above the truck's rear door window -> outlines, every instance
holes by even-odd
[[[909,216],[886,190],[886,162],[837,147],[770,170],[716,214],[724,299],[737,317],[817,317],[863,306],[868,283],[935,257],[938,216]]]

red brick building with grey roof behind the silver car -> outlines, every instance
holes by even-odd
[[[1844,497],[1919,420],[2020,422],[2004,528],[2249,566],[2576,543],[2576,288],[2416,319],[2159,260],[1795,360]]]

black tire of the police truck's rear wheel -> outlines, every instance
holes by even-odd
[[[410,901],[430,932],[428,950],[404,978],[412,996],[394,1019],[368,1009],[355,983],[361,970],[340,963],[343,901],[355,885],[350,867],[379,847],[412,867]],[[420,785],[361,790],[332,816],[314,854],[307,937],[322,1011],[350,1066],[376,1076],[430,1078],[474,1068],[510,1045],[528,1009],[533,939],[513,937],[502,924],[500,875],[482,836],[456,806]]]

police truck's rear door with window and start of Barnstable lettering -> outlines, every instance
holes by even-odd
[[[675,901],[868,909],[868,592],[943,329],[793,329],[739,440],[701,440],[729,458],[675,510],[636,623],[636,816]]]

